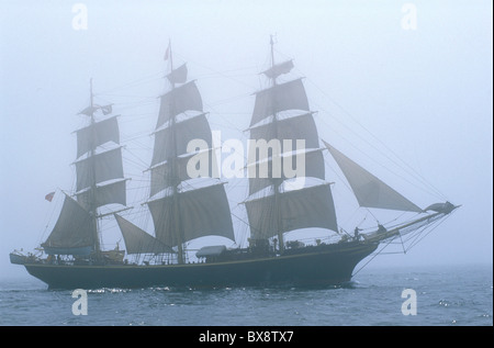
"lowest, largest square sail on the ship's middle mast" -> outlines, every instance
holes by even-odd
[[[173,216],[173,200],[177,200],[182,238],[177,236]],[[169,246],[180,242],[217,235],[235,240],[232,216],[223,183],[194,189],[149,201],[149,211],[155,224],[156,238]]]

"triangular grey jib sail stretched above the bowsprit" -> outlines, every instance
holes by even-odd
[[[347,178],[360,206],[417,213],[423,212],[420,207],[357,165],[336,148],[326,142],[324,142],[324,144]]]

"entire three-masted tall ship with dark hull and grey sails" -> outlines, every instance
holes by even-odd
[[[10,254],[12,263],[23,265],[49,288],[338,285],[380,245],[422,234],[457,207],[446,202],[420,209],[327,142],[321,146],[303,81],[280,82],[294,65],[274,60],[271,40],[271,66],[262,71],[270,86],[255,93],[249,124],[249,144],[259,146],[251,148],[243,168],[248,173],[243,202],[248,246],[205,245],[190,261],[190,240],[221,236],[235,242],[235,233],[227,183],[215,172],[218,158],[202,97],[195,81],[188,80],[187,65],[173,68],[169,54],[170,89],[160,97],[145,170],[149,195],[139,204],[151,216],[154,235],[124,217],[132,207],[126,205],[119,119],[112,105],[93,102],[91,82],[90,105],[80,112],[88,125],[76,131],[76,190],[61,192],[60,214],[41,244],[42,255]],[[414,217],[348,233],[337,223],[333,182],[326,181],[327,154],[361,207],[413,212]],[[294,175],[301,160],[302,176]],[[102,213],[109,204],[122,209]],[[120,227],[125,250],[101,246],[100,221],[109,216]],[[310,234],[311,228],[327,229],[336,239],[285,240],[289,232]]]

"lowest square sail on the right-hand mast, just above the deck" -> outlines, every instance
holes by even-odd
[[[245,204],[254,238],[269,238],[307,227],[338,231],[329,183],[287,191],[277,197],[271,194]],[[276,210],[278,214],[273,213]]]

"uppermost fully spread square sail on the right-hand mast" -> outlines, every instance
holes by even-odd
[[[308,101],[302,79],[274,85],[256,93],[250,126],[285,110],[308,111]]]

